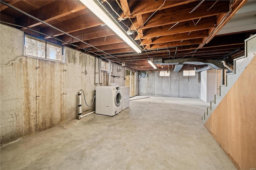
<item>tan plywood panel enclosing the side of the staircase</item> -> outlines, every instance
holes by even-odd
[[[205,124],[238,169],[256,168],[256,56]]]

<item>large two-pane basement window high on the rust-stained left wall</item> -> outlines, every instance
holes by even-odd
[[[62,46],[25,35],[24,55],[63,61]]]

